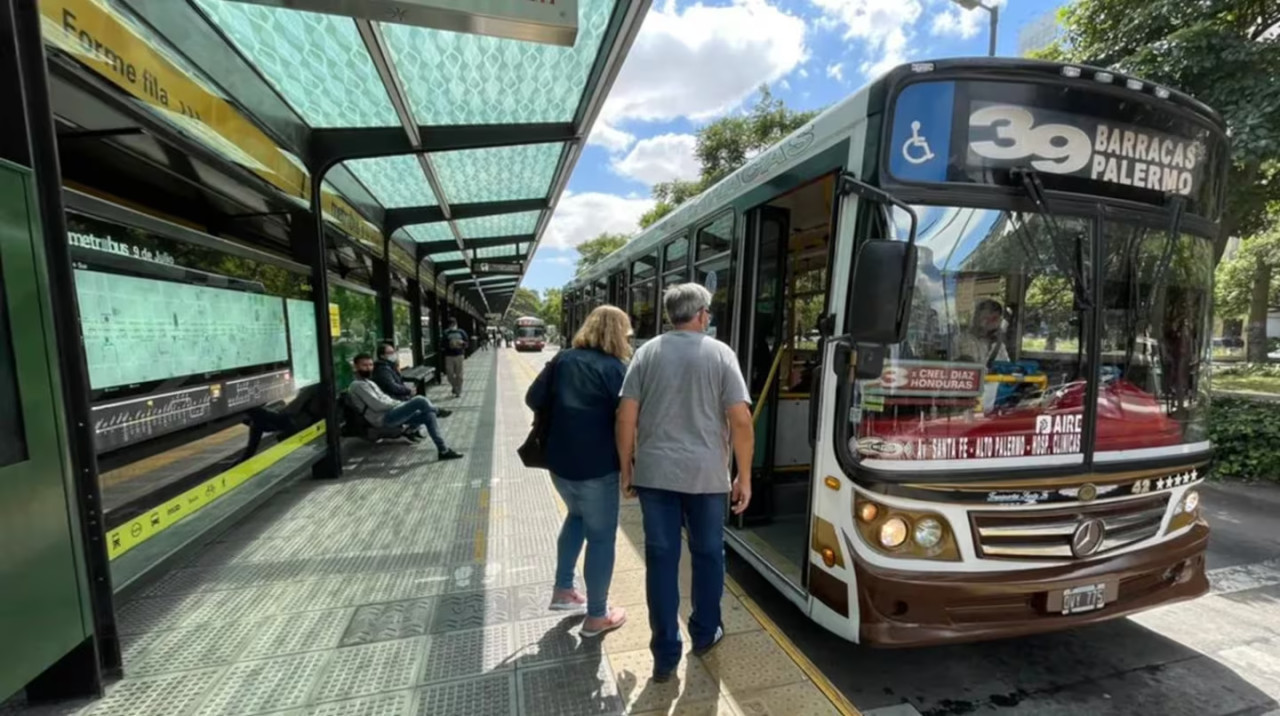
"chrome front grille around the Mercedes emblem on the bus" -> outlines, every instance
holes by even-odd
[[[979,557],[1071,560],[1071,535],[1084,520],[1102,521],[1102,544],[1084,558],[1097,557],[1155,537],[1167,506],[1165,493],[1062,510],[974,512],[970,519]]]

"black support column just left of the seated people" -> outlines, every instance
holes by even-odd
[[[316,307],[316,341],[320,356],[320,383],[325,414],[325,456],[311,468],[317,479],[342,476],[342,423],[338,419],[338,386],[333,370],[333,336],[329,330],[329,273],[324,238],[324,218],[320,214],[319,182],[312,182],[311,211],[296,210],[289,220],[289,242],[293,257],[311,266],[311,301]]]

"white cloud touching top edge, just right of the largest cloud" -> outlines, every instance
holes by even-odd
[[[922,0],[809,0],[827,26],[842,27],[845,40],[863,42],[859,70],[869,77],[906,61],[911,26],[924,12]]]

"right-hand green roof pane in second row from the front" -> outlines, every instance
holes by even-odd
[[[540,199],[552,190],[563,143],[468,149],[431,155],[449,204]]]

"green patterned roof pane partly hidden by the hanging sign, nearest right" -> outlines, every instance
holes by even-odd
[[[420,124],[570,122],[614,0],[579,0],[572,47],[404,24],[383,33]]]

